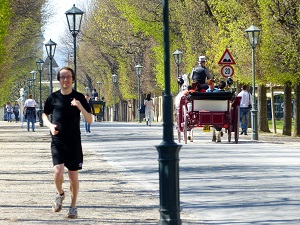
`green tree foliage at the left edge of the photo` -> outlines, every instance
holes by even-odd
[[[0,0],[0,103],[14,101],[41,54],[43,0]],[[4,47],[5,46],[5,47]],[[9,54],[8,54],[9,53]]]

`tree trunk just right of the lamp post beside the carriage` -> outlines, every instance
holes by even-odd
[[[268,125],[267,88],[259,85],[258,90],[258,130],[270,132]]]

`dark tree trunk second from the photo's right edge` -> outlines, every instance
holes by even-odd
[[[284,84],[283,135],[292,135],[292,88],[290,83]]]

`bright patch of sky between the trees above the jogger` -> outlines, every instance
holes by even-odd
[[[44,27],[44,38],[45,42],[48,42],[50,39],[54,41],[56,46],[56,51],[54,55],[54,59],[57,62],[59,67],[65,66],[63,62],[63,55],[59,50],[59,46],[61,46],[60,39],[64,34],[64,31],[68,29],[67,18],[65,12],[73,7],[73,4],[82,11],[84,11],[81,7],[88,2],[87,0],[48,0],[51,5],[51,17],[47,20],[47,23]],[[82,22],[84,22],[84,16]],[[45,43],[44,42],[44,43]],[[46,50],[44,48],[44,58],[47,58]]]

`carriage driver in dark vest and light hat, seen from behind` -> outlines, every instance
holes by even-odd
[[[198,83],[200,89],[208,89],[206,84],[208,79],[211,79],[208,68],[205,66],[206,59],[205,56],[199,56],[199,65],[193,68],[192,80],[193,83]]]

